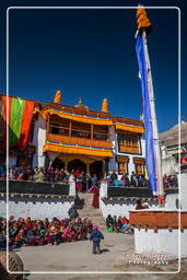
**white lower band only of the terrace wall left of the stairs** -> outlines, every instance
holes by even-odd
[[[25,199],[11,198],[9,200],[9,215],[14,215],[15,219],[27,218],[45,219],[52,218],[63,219],[69,218],[68,210],[73,205],[74,199]],[[7,217],[5,198],[0,199],[0,215]]]

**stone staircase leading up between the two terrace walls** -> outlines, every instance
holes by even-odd
[[[103,218],[101,210],[92,207],[93,194],[79,194],[79,198],[84,202],[83,205],[80,203],[80,206],[82,206],[82,209],[79,209],[79,206],[77,207],[79,217],[87,218],[93,223],[98,224],[102,231],[106,231],[105,219]]]

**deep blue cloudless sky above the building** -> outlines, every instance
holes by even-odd
[[[40,5],[51,3],[37,1],[37,4],[39,2]],[[100,1],[100,5],[125,5],[125,2],[137,5],[139,1]],[[144,5],[148,2],[141,1]],[[161,1],[151,2],[154,5]],[[164,2],[177,5],[179,1],[162,1],[162,4]],[[0,7],[1,93],[5,93],[5,8],[35,3],[5,1]],[[98,5],[98,1],[52,1],[52,4]],[[186,11],[185,7],[182,11]],[[178,120],[178,11],[147,12],[153,24],[148,42],[157,124],[159,130],[164,131]],[[9,19],[10,95],[47,103],[60,89],[63,104],[75,105],[81,96],[92,109],[101,109],[103,98],[107,97],[108,109],[114,116],[139,119],[142,104],[135,52],[135,10],[19,9],[10,10]],[[182,38],[184,51],[186,39]],[[185,62],[183,59],[182,78]],[[182,116],[187,120],[185,90],[182,83]]]

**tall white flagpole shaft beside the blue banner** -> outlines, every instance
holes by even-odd
[[[160,143],[159,143],[157,120],[156,120],[156,114],[155,114],[155,98],[154,98],[153,82],[152,82],[152,74],[151,74],[151,63],[150,63],[149,51],[148,51],[148,42],[147,42],[145,30],[142,31],[142,39],[143,39],[143,47],[144,47],[144,54],[145,54],[149,100],[150,100],[150,109],[151,109],[151,120],[152,120],[152,127],[153,127],[155,172],[156,172],[156,180],[157,180],[157,197],[159,197],[160,205],[162,205],[164,189],[163,189],[163,178],[162,178],[161,151],[160,151]]]

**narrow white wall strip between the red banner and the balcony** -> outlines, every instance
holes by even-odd
[[[33,142],[36,147],[36,153],[33,156],[33,167],[44,166],[45,155],[44,155],[44,144],[46,141],[46,120],[38,115],[38,120],[35,122]]]

